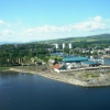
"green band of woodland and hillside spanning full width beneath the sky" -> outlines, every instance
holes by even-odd
[[[52,46],[53,43],[73,43],[74,50],[69,50],[68,45],[66,44],[67,48],[64,48],[64,53],[66,54],[97,56],[97,51],[94,53],[84,53],[80,50],[103,50],[105,47],[110,46],[110,34],[101,34],[87,37],[68,37],[28,44],[0,45],[0,66],[21,65],[22,63],[30,63],[32,59],[34,63],[37,62],[37,58],[42,59],[43,62],[47,62],[48,58],[62,61],[62,57],[50,56],[48,48],[53,48],[55,52],[55,48]]]

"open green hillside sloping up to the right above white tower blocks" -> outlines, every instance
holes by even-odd
[[[74,43],[75,46],[88,46],[88,45],[105,45],[108,46],[110,42],[110,34],[100,34],[100,35],[91,35],[91,36],[84,36],[84,37],[67,37],[67,38],[58,38],[58,40],[50,40],[50,41],[42,41],[42,43]],[[87,43],[87,45],[85,44]]]

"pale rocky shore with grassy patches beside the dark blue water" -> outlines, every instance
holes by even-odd
[[[102,87],[110,86],[110,69],[103,70],[81,70],[70,73],[55,73],[53,69],[41,66],[14,67],[10,70],[19,73],[31,73],[54,80],[82,86],[82,87]]]

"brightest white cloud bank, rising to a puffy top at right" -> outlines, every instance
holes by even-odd
[[[24,33],[30,35],[40,34],[40,33],[59,33],[59,32],[72,32],[72,31],[81,31],[81,32],[91,32],[91,31],[99,31],[99,30],[107,30],[108,29],[107,20],[102,19],[101,16],[89,18],[87,21],[69,24],[64,26],[52,26],[52,25],[44,25],[34,29],[26,29]]]

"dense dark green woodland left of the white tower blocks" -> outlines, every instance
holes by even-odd
[[[28,63],[32,57],[38,57],[46,61],[50,56],[48,44],[4,44],[0,45],[0,66],[19,65]]]

